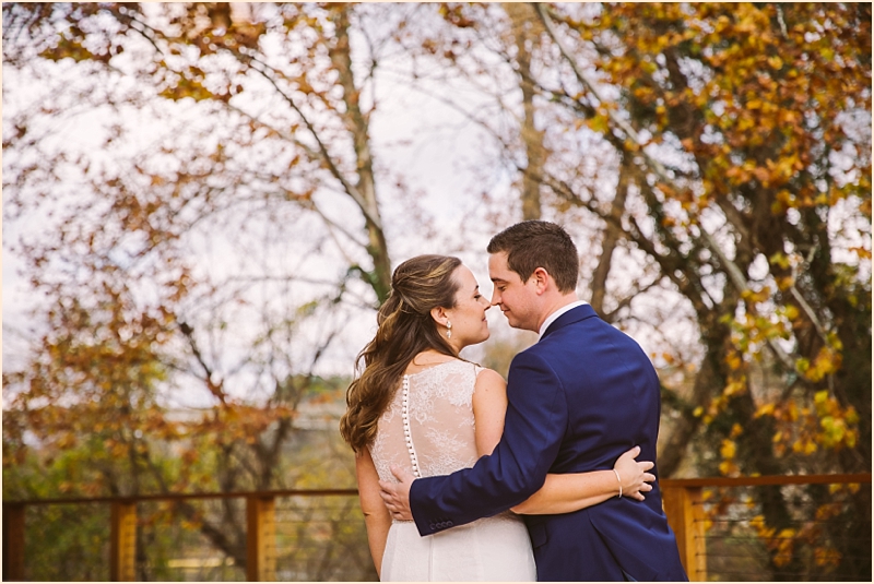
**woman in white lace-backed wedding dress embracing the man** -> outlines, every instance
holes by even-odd
[[[504,379],[459,357],[488,338],[471,271],[457,258],[418,255],[392,276],[378,330],[358,356],[364,370],[346,392],[340,422],[356,454],[367,539],[381,581],[535,581],[531,543],[519,514],[569,513],[611,497],[643,499],[654,477],[637,448],[612,470],[548,475],[540,491],[493,517],[421,537],[392,521],[379,480],[397,466],[415,477],[448,475],[491,454],[504,431]]]

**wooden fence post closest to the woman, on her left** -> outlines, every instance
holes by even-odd
[[[273,497],[246,498],[246,580],[276,580],[276,522]]]

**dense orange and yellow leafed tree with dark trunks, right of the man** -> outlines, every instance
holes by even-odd
[[[566,61],[541,90],[615,150],[639,211],[605,211],[567,168],[543,182],[619,228],[698,323],[662,474],[698,436],[720,452],[700,472],[869,469],[870,7],[536,8]],[[760,497],[784,527],[783,496]]]

